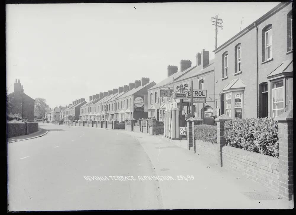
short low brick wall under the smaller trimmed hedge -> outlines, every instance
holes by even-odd
[[[194,140],[196,154],[211,157],[216,160],[218,156],[218,145],[203,140]]]

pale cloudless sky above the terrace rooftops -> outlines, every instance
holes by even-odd
[[[192,61],[279,2],[6,4],[6,85],[50,107],[112,90],[142,77],[155,83],[168,65]],[[242,19],[243,17],[243,19]],[[242,26],[241,26],[242,25]]]

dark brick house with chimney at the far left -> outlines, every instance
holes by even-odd
[[[24,93],[20,80],[15,80],[14,92],[8,95],[7,113],[20,114],[28,122],[34,122],[35,100]]]

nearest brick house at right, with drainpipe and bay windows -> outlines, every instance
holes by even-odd
[[[290,2],[278,4],[214,53],[217,115],[276,117],[293,108]]]

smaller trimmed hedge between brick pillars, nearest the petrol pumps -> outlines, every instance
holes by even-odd
[[[194,139],[203,140],[212,144],[217,144],[217,126],[215,125],[195,125]]]

